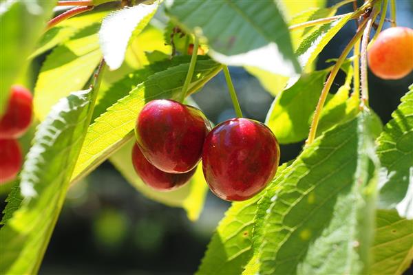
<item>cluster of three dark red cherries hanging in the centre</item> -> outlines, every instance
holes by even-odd
[[[243,201],[263,190],[279,164],[279,146],[267,126],[233,118],[211,131],[204,113],[173,100],[153,100],[136,120],[132,162],[156,190],[174,190],[189,181],[202,159],[212,192]]]

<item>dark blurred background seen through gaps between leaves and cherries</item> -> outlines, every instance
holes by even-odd
[[[337,2],[328,1],[328,5]],[[351,11],[350,4],[338,14]],[[397,1],[398,25],[413,28],[412,13],[413,1]],[[385,28],[389,25],[385,23]],[[341,54],[355,28],[350,21],[330,41],[319,56],[317,69],[328,67],[326,60]],[[231,67],[230,71],[244,116],[264,122],[273,96],[244,69]],[[381,80],[370,73],[368,78],[370,105],[383,123],[388,122],[413,83],[413,74],[396,81]],[[337,76],[332,92],[342,83],[343,76]],[[235,117],[223,74],[213,78],[193,100],[215,124]],[[282,162],[295,158],[302,146],[281,146]],[[8,190],[10,186],[1,186],[1,210]],[[105,162],[70,189],[40,274],[193,274],[229,205],[209,192],[200,219],[191,222],[181,208],[140,195]]]

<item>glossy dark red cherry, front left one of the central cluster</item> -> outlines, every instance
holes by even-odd
[[[136,120],[143,155],[167,173],[187,173],[200,162],[211,125],[204,113],[173,100],[152,100]]]

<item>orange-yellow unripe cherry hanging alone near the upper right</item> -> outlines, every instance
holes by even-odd
[[[394,27],[381,32],[368,51],[373,74],[383,79],[399,79],[413,69],[413,30]]]

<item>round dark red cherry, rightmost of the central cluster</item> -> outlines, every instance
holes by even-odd
[[[278,164],[275,135],[255,120],[226,120],[204,142],[204,177],[211,191],[227,201],[244,201],[263,190]]]

